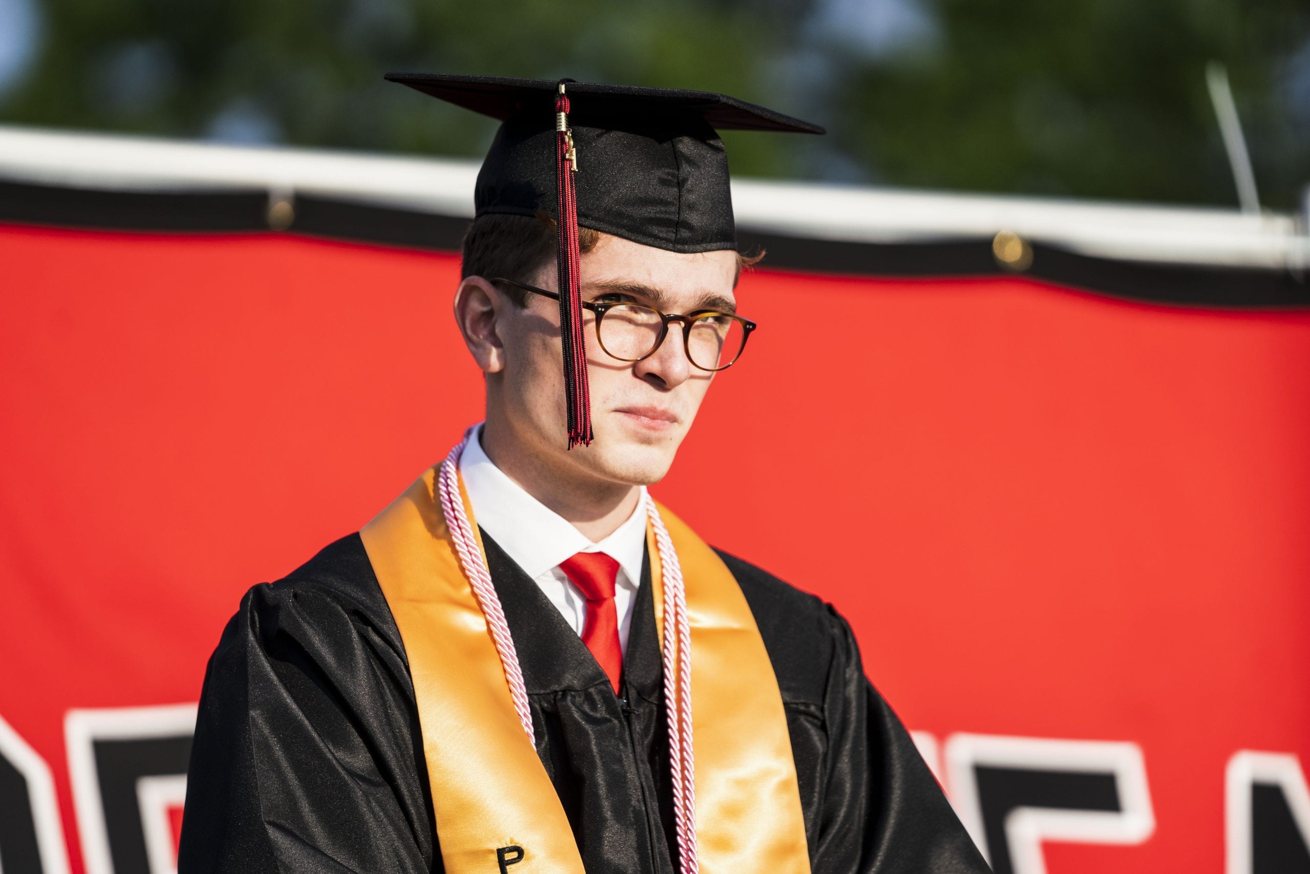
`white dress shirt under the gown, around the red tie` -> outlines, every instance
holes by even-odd
[[[469,440],[460,457],[460,476],[473,504],[476,523],[541,587],[578,636],[587,624],[587,599],[559,570],[561,562],[582,552],[601,552],[617,561],[614,609],[618,613],[618,645],[626,653],[634,595],[646,558],[646,489],[642,489],[642,501],[638,501],[627,522],[593,544],[572,523],[502,473],[482,451],[481,439],[482,428],[478,428],[477,438]]]

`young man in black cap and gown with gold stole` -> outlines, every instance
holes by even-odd
[[[986,871],[846,621],[646,491],[756,330],[715,130],[821,128],[702,92],[389,79],[502,122],[455,292],[486,419],[246,594],[179,874]],[[731,512],[751,472],[723,457]]]

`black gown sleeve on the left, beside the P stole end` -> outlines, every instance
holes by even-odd
[[[413,710],[368,604],[316,580],[250,590],[206,672],[178,874],[431,871]]]

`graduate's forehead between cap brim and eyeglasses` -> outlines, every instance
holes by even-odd
[[[707,294],[732,299],[736,274],[738,254],[732,249],[668,252],[610,235],[601,235],[582,257],[583,284],[630,282],[658,288],[673,300]]]

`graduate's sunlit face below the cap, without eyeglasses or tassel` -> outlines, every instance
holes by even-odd
[[[665,313],[735,308],[732,250],[680,254],[603,236],[582,257],[583,300],[627,301]],[[549,265],[532,284],[555,290]],[[584,313],[595,442],[567,449],[559,309],[529,295],[528,307],[504,326],[502,402],[519,440],[559,474],[648,485],[668,473],[714,375],[686,359],[675,322],[659,350],[641,362],[610,358],[596,339],[595,314]]]

